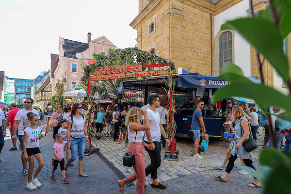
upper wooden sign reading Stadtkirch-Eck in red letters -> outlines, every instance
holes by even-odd
[[[142,65],[130,65],[130,64],[111,65],[111,66],[104,66],[104,67],[99,67],[99,68],[94,69],[92,75],[97,76],[97,75],[109,75],[109,74],[121,74],[121,73],[125,74],[125,73],[139,72],[139,71],[142,71]],[[118,75],[118,76],[121,76],[121,75]],[[113,78],[113,79],[120,79],[120,78]]]

